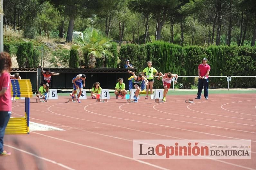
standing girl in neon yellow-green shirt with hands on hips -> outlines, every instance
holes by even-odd
[[[150,88],[151,94],[153,94],[154,77],[157,76],[157,74],[158,74],[158,71],[154,67],[151,67],[151,66],[152,66],[152,61],[148,61],[148,67],[146,67],[142,71],[143,75],[144,75],[144,72],[146,73],[146,79],[149,81],[149,83],[147,84],[145,98],[148,98],[149,88]],[[154,75],[154,73],[155,73],[155,75]]]

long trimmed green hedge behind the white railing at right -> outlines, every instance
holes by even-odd
[[[172,72],[178,75],[197,75],[198,65],[206,57],[211,66],[210,75],[256,75],[256,47],[237,46],[186,46],[156,41],[145,45],[127,44],[120,49],[119,67],[123,67],[125,60],[138,72],[146,66],[147,61],[153,62],[152,67],[158,72]],[[196,85],[194,78],[179,78],[176,86],[190,88]],[[227,88],[226,78],[210,78],[211,87]],[[153,88],[160,88],[161,83],[154,83]],[[255,78],[232,78],[232,88],[256,87]]]

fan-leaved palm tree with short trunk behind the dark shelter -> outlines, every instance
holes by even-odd
[[[73,38],[73,49],[77,49],[83,54],[88,53],[88,67],[93,68],[96,65],[96,58],[114,57],[108,50],[112,46],[112,39],[108,38],[103,32],[93,29],[87,31],[84,37],[76,36]]]

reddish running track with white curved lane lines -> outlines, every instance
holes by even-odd
[[[142,96],[143,97],[143,96]],[[142,98],[141,97],[141,98]],[[30,121],[65,131],[5,135],[2,169],[256,169],[256,95],[168,96],[166,103],[111,98],[68,103],[68,97],[35,103]],[[12,116],[24,115],[24,101],[13,103]],[[251,159],[133,159],[133,139],[250,139]]]

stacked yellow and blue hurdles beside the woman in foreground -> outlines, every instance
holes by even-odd
[[[5,134],[28,134],[29,133],[29,108],[32,98],[32,84],[30,80],[11,80],[11,97],[25,98],[25,116],[11,117]]]

